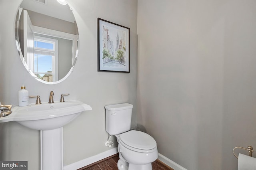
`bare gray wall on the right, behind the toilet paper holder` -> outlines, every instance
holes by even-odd
[[[138,0],[137,121],[184,168],[235,170],[232,149],[256,147],[255,8]]]

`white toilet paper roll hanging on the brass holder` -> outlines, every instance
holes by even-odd
[[[256,170],[256,158],[244,154],[239,154],[238,170]]]

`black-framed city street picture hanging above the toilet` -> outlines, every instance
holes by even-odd
[[[130,73],[130,28],[98,18],[98,71]]]

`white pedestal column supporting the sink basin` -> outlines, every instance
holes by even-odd
[[[41,170],[63,170],[62,127],[40,130]]]

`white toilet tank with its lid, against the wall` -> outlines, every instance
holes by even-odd
[[[108,134],[120,134],[131,128],[133,105],[122,103],[105,106],[106,131]]]

